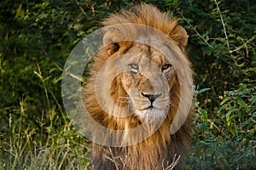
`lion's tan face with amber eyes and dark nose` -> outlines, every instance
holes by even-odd
[[[119,75],[128,108],[141,121],[165,118],[171,105],[170,90],[177,82],[172,64],[154,48],[134,43],[125,55],[125,71]]]

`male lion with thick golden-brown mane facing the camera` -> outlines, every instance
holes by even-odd
[[[180,156],[173,167],[182,169],[193,117],[187,32],[144,3],[102,23],[104,48],[91,63],[83,100],[90,116],[116,133],[104,137],[92,127],[101,141],[92,143],[91,168],[166,169]]]

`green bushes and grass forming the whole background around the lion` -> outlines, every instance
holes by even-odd
[[[148,0],[180,19],[195,70],[186,169],[256,168],[256,2]],[[90,142],[61,100],[68,54],[100,21],[138,1],[0,3],[0,169],[86,169]]]

